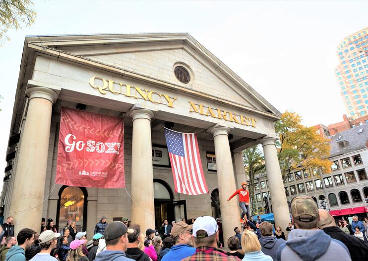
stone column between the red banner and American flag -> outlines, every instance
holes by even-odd
[[[131,144],[131,221],[140,224],[141,231],[155,229],[151,118],[148,109],[130,112],[133,118]]]

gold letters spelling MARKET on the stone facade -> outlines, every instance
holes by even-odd
[[[240,115],[235,112],[225,111],[220,108],[211,108],[203,104],[195,104],[192,101],[188,102],[189,102],[189,112],[199,113],[205,116],[211,116],[213,118],[223,119],[226,121],[235,122],[245,126],[252,126],[253,128],[256,127],[255,124],[257,123],[257,120],[254,118],[247,117],[245,115]],[[207,109],[206,113],[203,112],[204,108]]]

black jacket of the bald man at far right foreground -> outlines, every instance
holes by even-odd
[[[346,234],[338,227],[327,227],[323,231],[331,238],[341,241],[349,250],[352,261],[368,260],[368,244]]]

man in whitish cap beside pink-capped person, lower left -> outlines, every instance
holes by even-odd
[[[56,258],[50,256],[53,249],[56,248],[60,233],[54,233],[52,230],[46,230],[38,237],[40,241],[41,252],[34,256],[30,261],[57,261]]]

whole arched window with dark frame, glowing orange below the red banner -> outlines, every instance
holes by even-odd
[[[59,191],[57,226],[59,230],[70,219],[75,221],[78,231],[85,231],[87,225],[87,190],[85,187],[62,186]]]

